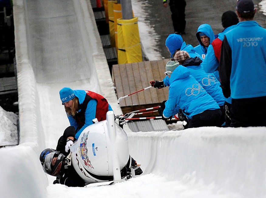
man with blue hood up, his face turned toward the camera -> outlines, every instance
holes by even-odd
[[[199,45],[195,48],[196,52],[204,59],[210,43],[215,39],[213,29],[209,24],[202,24],[199,26],[196,33],[196,38],[199,41]]]

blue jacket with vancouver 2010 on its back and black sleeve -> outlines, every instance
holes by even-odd
[[[227,32],[219,74],[225,97],[266,96],[266,29],[256,21],[242,21]]]

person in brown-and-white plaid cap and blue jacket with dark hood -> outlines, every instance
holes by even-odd
[[[203,67],[200,65],[202,60],[198,57],[190,58],[186,51],[178,51],[175,54],[175,60],[179,61],[179,64],[186,67],[190,71],[196,81],[206,90],[206,92],[217,102],[219,105],[222,117],[220,120],[220,125],[225,122],[225,111],[223,104],[225,102],[225,97],[223,96],[222,89],[220,87],[220,82],[215,78],[213,73],[207,74]]]

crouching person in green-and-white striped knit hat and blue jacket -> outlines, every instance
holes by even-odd
[[[190,75],[188,68],[177,61],[168,61],[165,70],[170,77],[170,87],[162,119],[168,119],[181,109],[189,120],[188,128],[219,126],[222,113],[217,102]]]

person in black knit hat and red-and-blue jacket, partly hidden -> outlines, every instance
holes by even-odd
[[[220,62],[220,53],[221,53],[221,46],[223,42],[223,38],[225,33],[235,28],[237,23],[239,22],[237,18],[237,14],[232,11],[228,10],[223,13],[222,15],[222,26],[223,31],[218,34],[218,38],[214,39],[211,45],[209,45],[206,57],[201,64],[206,71],[206,73],[214,73],[216,78],[220,80],[218,68]],[[225,99],[225,103],[223,105],[224,112],[225,112],[225,126],[230,126],[231,119],[230,119],[230,108],[231,108],[231,97]]]

